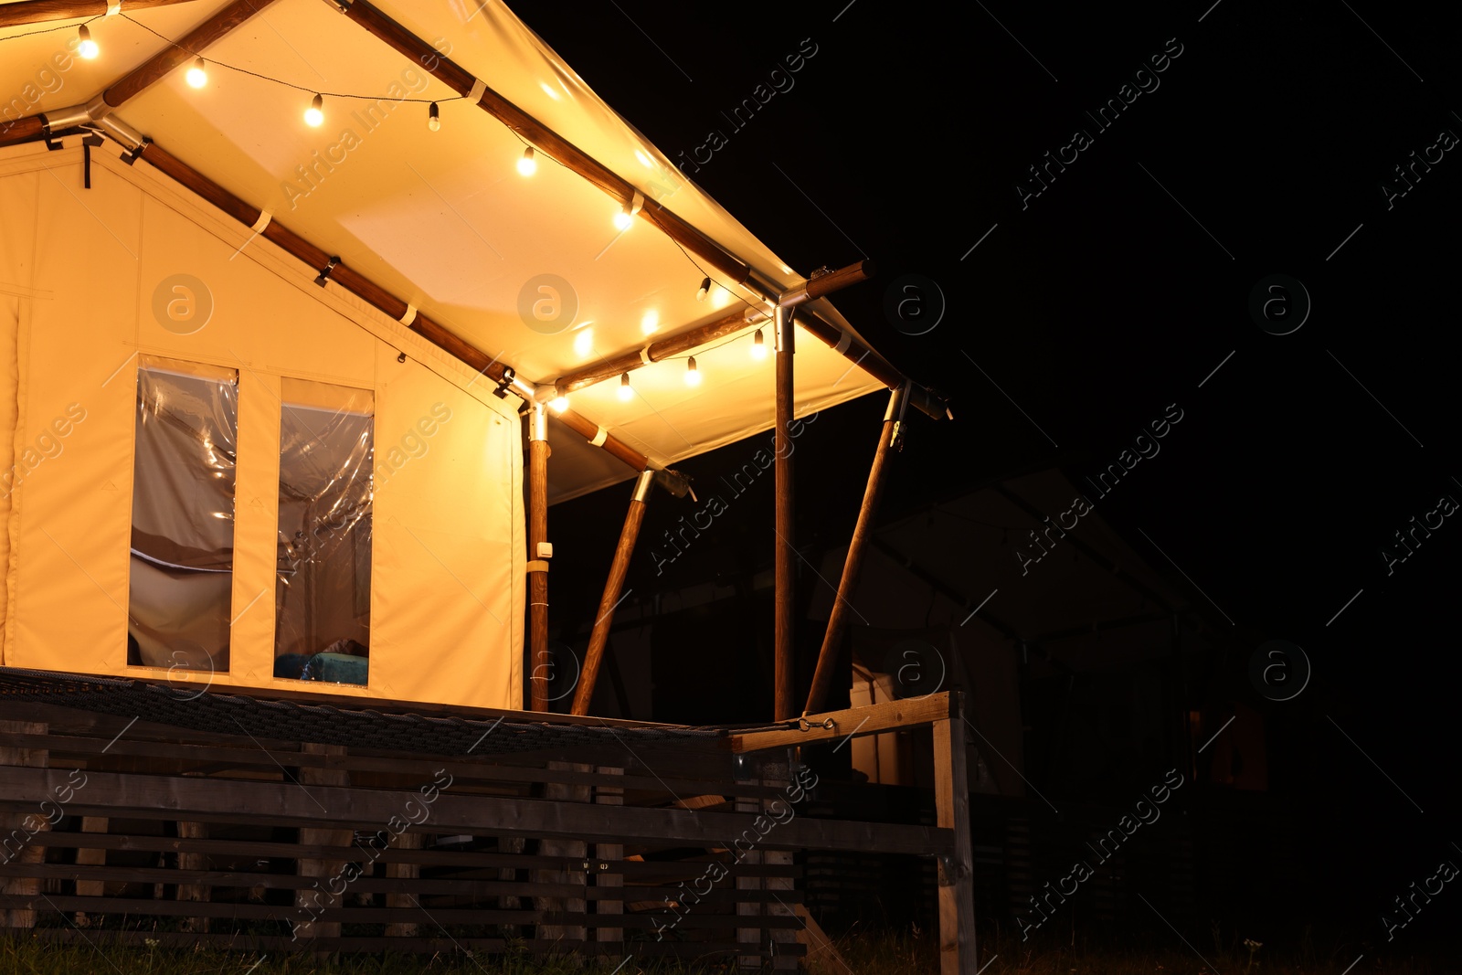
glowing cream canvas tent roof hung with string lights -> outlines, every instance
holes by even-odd
[[[67,57],[80,19],[0,29],[0,38],[15,38],[3,41],[0,58],[0,92],[18,95],[6,102],[9,117],[18,104],[35,114],[89,101],[225,6],[194,0],[92,19],[91,34],[102,48],[92,61]],[[203,89],[189,88],[178,69],[115,114],[512,364],[522,377],[553,382],[737,307],[766,310],[759,295],[696,260],[649,222],[636,221],[620,234],[611,222],[620,203],[547,153],[538,153],[535,175],[519,175],[516,161],[525,143],[518,134],[332,4],[278,0],[260,6],[260,13],[203,51],[209,64]],[[646,199],[659,200],[750,265],[759,278],[776,288],[803,279],[503,4],[396,0],[379,6]],[[326,92],[326,120],[310,129],[301,115],[316,91]],[[439,132],[427,127],[431,99],[440,102]],[[697,301],[706,273],[728,287],[713,287]],[[525,303],[553,297],[535,292],[541,275],[561,279],[561,291],[566,285],[558,297],[564,307],[577,306],[572,319],[531,325],[532,316],[525,317]],[[825,298],[811,307],[852,332]],[[636,395],[627,402],[617,398],[618,383],[611,380],[573,393],[573,408],[656,463],[766,430],[773,418],[772,368],[769,358],[756,361],[749,354],[754,330],[749,325],[694,351],[705,377],[696,389],[684,383],[681,357],[635,371]],[[797,352],[798,415],[883,386],[822,342],[804,341]],[[556,447],[573,437],[563,433]],[[632,477],[627,466],[579,446],[556,449],[553,500]]]

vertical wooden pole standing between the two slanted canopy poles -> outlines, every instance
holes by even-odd
[[[792,310],[776,308],[776,626],[773,627],[773,718],[795,716],[797,667],[792,656],[797,614],[792,604],[792,580],[797,573],[797,550],[792,548],[792,437],[789,425],[794,409],[792,355],[797,351],[797,329]]]

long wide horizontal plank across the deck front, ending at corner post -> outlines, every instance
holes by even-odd
[[[238,782],[209,778],[88,772],[76,788],[63,769],[0,767],[0,810],[32,811],[63,792],[72,816],[385,829],[415,816],[401,792],[351,786]],[[418,810],[421,805],[418,804]],[[943,854],[949,829],[792,816],[785,823],[749,813],[633,808],[553,800],[503,800],[440,792],[425,807],[433,832],[582,839],[601,843],[684,842],[722,846],[747,836],[757,848]],[[259,810],[259,811],[254,811]],[[763,829],[757,830],[757,824]]]

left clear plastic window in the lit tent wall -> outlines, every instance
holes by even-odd
[[[238,373],[137,370],[127,664],[228,671]]]

